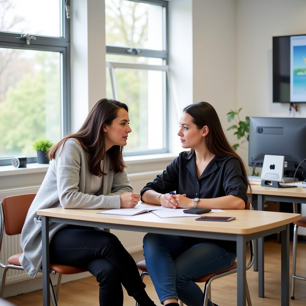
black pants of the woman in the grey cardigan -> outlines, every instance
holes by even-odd
[[[122,306],[125,287],[129,296],[145,288],[132,256],[118,238],[92,227],[69,225],[50,241],[50,262],[87,269],[99,282],[100,306]]]

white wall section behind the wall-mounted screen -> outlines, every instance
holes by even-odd
[[[237,0],[237,102],[244,116],[306,117],[272,103],[272,36],[306,33],[305,0]],[[248,162],[248,151],[239,154]]]

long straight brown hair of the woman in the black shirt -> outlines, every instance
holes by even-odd
[[[192,117],[192,122],[198,129],[202,129],[204,125],[208,126],[209,132],[205,138],[207,149],[211,153],[216,156],[233,155],[239,160],[242,174],[248,184],[249,190],[252,191],[244,162],[228,142],[214,107],[207,102],[199,102],[186,106],[183,111]],[[194,149],[192,148],[190,154],[193,153],[193,151]]]

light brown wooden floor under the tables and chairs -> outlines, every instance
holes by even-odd
[[[281,287],[281,245],[276,241],[267,241],[265,244],[265,298],[258,297],[258,272],[251,268],[247,271],[248,286],[253,306],[259,305],[280,305]],[[306,244],[298,244],[297,252],[297,273],[306,277]],[[292,244],[290,244],[290,273],[292,271]],[[146,291],[154,300],[159,303],[154,287],[149,277],[144,278]],[[291,284],[291,281],[290,281]],[[200,284],[203,288],[203,284]],[[59,297],[59,306],[99,306],[99,287],[94,277],[63,284]],[[236,274],[232,274],[212,283],[212,301],[219,306],[236,305]],[[290,287],[291,296],[291,287]],[[10,297],[6,300],[16,305],[42,305],[42,290]],[[135,301],[125,292],[124,305],[132,306]],[[291,306],[306,305],[306,282],[296,280],[295,300],[290,300]],[[108,305],[107,305],[108,306]]]

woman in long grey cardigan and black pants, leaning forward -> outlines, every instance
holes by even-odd
[[[35,277],[42,264],[39,209],[50,207],[105,209],[134,207],[122,158],[129,127],[128,107],[99,100],[84,124],[50,148],[50,167],[28,211],[21,233],[20,263]],[[122,285],[142,306],[155,305],[147,296],[136,263],[118,238],[92,227],[50,223],[50,262],[80,267],[99,282],[100,306],[123,305]]]

